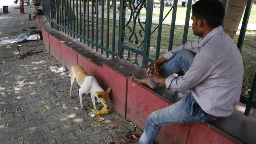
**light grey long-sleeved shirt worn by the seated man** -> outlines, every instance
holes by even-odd
[[[204,39],[179,46],[163,56],[170,60],[180,50],[196,54],[184,76],[168,77],[166,88],[190,90],[199,106],[214,116],[230,116],[238,104],[243,80],[243,61],[233,40],[219,26]]]

